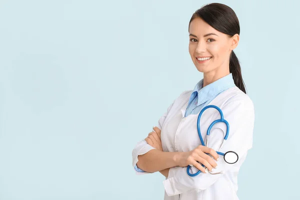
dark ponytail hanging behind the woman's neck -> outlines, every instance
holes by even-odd
[[[241,77],[241,69],[240,69],[239,61],[235,53],[233,52],[233,50],[231,51],[230,54],[229,72],[232,73],[234,84],[244,93],[246,93],[245,85]]]

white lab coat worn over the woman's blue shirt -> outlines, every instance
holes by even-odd
[[[192,90],[182,92],[167,111],[159,118],[157,127],[161,129],[161,142],[163,151],[189,151],[201,144],[197,133],[198,114],[190,114],[184,117],[185,109]],[[218,106],[229,123],[229,136],[221,152],[229,150],[238,154],[238,161],[228,164],[219,155],[217,169],[224,174],[199,173],[196,176],[188,176],[186,167],[175,166],[170,168],[168,177],[163,181],[165,200],[191,200],[214,199],[236,200],[237,174],[243,163],[247,150],[252,147],[252,133],[254,125],[254,107],[251,99],[238,87],[231,87],[216,96],[208,105]],[[206,138],[208,126],[215,119],[219,119],[219,112],[215,108],[206,109],[200,119],[202,138]],[[210,131],[209,147],[218,150],[226,125],[222,122],[213,125]],[[132,150],[132,165],[138,161],[137,156],[146,153],[152,146],[144,140],[138,142]],[[192,173],[197,169],[191,167]],[[148,172],[137,172],[146,174]]]

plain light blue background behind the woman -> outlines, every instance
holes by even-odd
[[[209,1],[208,1],[209,2]],[[225,0],[255,105],[240,199],[299,199],[294,0]],[[1,0],[0,199],[162,199],[131,150],[202,78],[188,54],[201,0]]]

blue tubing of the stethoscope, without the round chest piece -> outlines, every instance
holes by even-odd
[[[217,109],[217,110],[219,111],[219,113],[220,113],[220,119],[216,119],[216,120],[212,121],[212,123],[209,125],[209,127],[208,127],[208,129],[207,129],[207,132],[206,132],[206,135],[207,135],[206,137],[207,137],[207,139],[208,139],[208,137],[209,137],[211,127],[212,127],[215,123],[218,123],[218,122],[224,122],[224,123],[226,124],[226,126],[227,126],[226,134],[225,134],[225,136],[224,136],[224,138],[223,138],[222,144],[223,144],[224,140],[227,139],[228,134],[229,134],[229,123],[228,123],[228,121],[226,121],[226,120],[224,119],[222,110],[221,110],[218,106],[216,106],[216,105],[207,105],[207,106],[205,106],[205,107],[200,111],[200,113],[199,113],[199,115],[198,115],[198,118],[197,118],[197,130],[198,130],[198,135],[199,135],[199,138],[200,138],[200,141],[201,141],[201,145],[202,145],[202,146],[205,146],[205,144],[204,144],[204,141],[203,141],[203,138],[202,138],[202,135],[201,135],[201,131],[200,131],[200,118],[201,118],[202,113],[203,113],[206,109],[211,108],[211,107],[213,107],[213,108],[215,108],[215,109]],[[221,148],[222,144],[220,145],[220,148]],[[207,147],[208,147],[208,146],[207,146]],[[219,155],[224,155],[224,153],[219,152],[219,151],[216,151],[216,153],[219,154]],[[202,164],[202,166],[204,166],[204,164]],[[198,175],[198,174],[201,172],[200,170],[198,170],[196,173],[190,173],[190,172],[189,172],[189,169],[190,169],[190,165],[187,165],[186,172],[187,172],[187,174],[188,174],[189,176],[196,176],[196,175]]]

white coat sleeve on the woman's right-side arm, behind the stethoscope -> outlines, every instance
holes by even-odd
[[[223,153],[232,150],[238,154],[238,161],[234,164],[228,164],[224,161],[223,156],[219,155],[217,163],[217,171],[238,171],[241,166],[247,150],[252,147],[252,133],[254,126],[254,107],[250,99],[235,100],[225,103],[220,107],[224,119],[229,123],[229,135],[225,140],[222,148],[219,150]],[[211,108],[210,108],[211,109]],[[217,110],[215,110],[218,112]],[[217,114],[218,119],[220,117]],[[213,121],[211,120],[210,123]],[[213,125],[209,136],[209,147],[218,151],[218,148],[226,132],[226,125],[222,122]],[[204,190],[212,185],[223,174],[209,174],[200,172],[196,176],[189,176],[186,172],[187,167],[172,167],[169,170],[168,177],[163,181],[164,189],[168,196],[180,194],[182,192],[195,189]],[[191,167],[191,173],[198,171],[197,168]],[[212,172],[214,172],[212,171]]]

